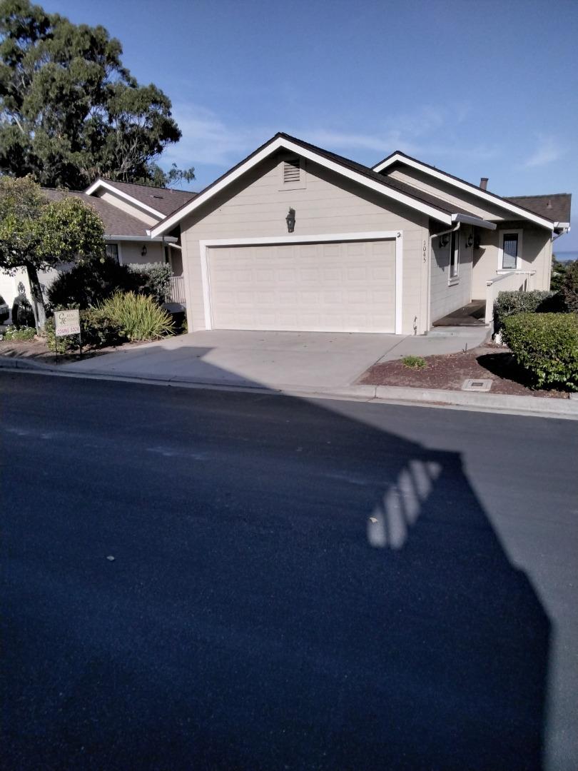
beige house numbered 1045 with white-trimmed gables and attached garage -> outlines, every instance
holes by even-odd
[[[499,288],[549,288],[570,195],[486,182],[399,152],[371,169],[278,133],[150,234],[180,227],[190,330],[422,334]]]

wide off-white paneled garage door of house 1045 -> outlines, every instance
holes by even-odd
[[[394,332],[395,241],[210,247],[215,329]]]

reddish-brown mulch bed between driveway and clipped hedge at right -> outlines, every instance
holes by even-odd
[[[363,385],[405,385],[412,388],[459,391],[465,379],[490,379],[490,393],[568,399],[566,391],[532,389],[528,375],[504,348],[482,346],[463,353],[425,357],[427,366],[411,369],[402,361],[375,364],[361,375]]]

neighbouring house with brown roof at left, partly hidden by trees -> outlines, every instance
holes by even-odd
[[[120,264],[169,262],[173,271],[171,299],[184,304],[179,227],[153,238],[149,230],[192,200],[194,193],[104,179],[96,180],[84,191],[42,190],[51,200],[76,196],[92,206],[104,224],[106,253]],[[40,273],[42,287],[48,288],[56,275],[55,270]],[[18,295],[30,298],[25,271],[17,271],[14,276],[0,271],[0,295],[10,308]]]

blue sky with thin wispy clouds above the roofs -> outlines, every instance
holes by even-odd
[[[373,165],[404,150],[578,215],[578,2],[45,0],[173,101],[200,190],[278,130]],[[559,251],[578,250],[578,216]]]

